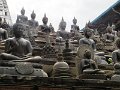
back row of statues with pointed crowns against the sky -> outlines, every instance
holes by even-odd
[[[39,30],[39,31],[42,31],[42,32],[45,32],[45,33],[46,32],[52,32],[52,33],[55,32],[54,31],[54,27],[52,26],[51,23],[50,23],[49,26],[47,25],[48,18],[46,17],[46,14],[44,14],[44,17],[42,19],[43,25],[39,25],[38,21],[36,21],[35,18],[36,18],[36,14],[33,11],[32,14],[31,14],[31,20],[28,20],[28,17],[25,16],[24,8],[22,8],[21,15],[17,16],[16,23],[22,23],[24,25],[28,25],[32,29],[36,29],[37,28],[37,31]],[[62,20],[61,20],[61,22],[59,24],[59,29],[57,31],[57,36],[60,36],[63,39],[69,38],[70,35],[69,35],[69,33],[65,29],[66,29],[66,22],[62,18]],[[77,19],[74,17],[73,25],[71,25],[71,32],[74,32],[74,33],[77,34],[77,32],[79,32],[79,30],[80,29],[79,29],[79,26],[77,25]]]

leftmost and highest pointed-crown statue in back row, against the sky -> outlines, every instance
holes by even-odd
[[[25,16],[25,9],[22,8],[22,10],[21,10],[21,15],[18,15],[18,16],[17,16],[16,23],[27,24],[27,21],[28,21],[28,17]]]

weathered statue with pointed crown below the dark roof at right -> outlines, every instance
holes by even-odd
[[[112,33],[112,27],[110,27],[110,25],[108,25],[108,27],[106,28],[107,33],[105,34],[104,38],[106,42],[113,42],[115,40],[115,35]]]

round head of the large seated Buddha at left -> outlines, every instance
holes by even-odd
[[[22,24],[16,23],[13,25],[13,34],[15,35],[16,38],[22,37],[23,30],[24,30],[24,27]]]

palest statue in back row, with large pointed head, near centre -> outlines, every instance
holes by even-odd
[[[66,22],[62,18],[59,24],[59,30],[57,31],[57,37],[62,37],[63,40],[69,39],[69,33],[65,31],[65,28],[66,28]]]

